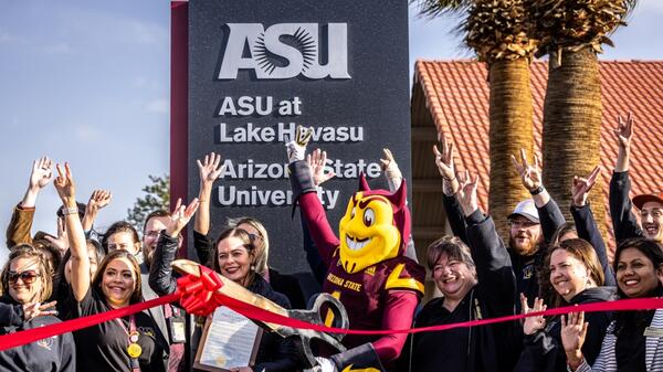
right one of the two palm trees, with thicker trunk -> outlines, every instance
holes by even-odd
[[[568,214],[571,179],[600,162],[601,85],[597,54],[608,34],[625,24],[635,0],[527,0],[538,55],[548,54],[544,103],[544,184]],[[601,184],[594,190],[602,190]],[[604,221],[602,192],[590,195]],[[568,215],[567,215],[568,216]],[[600,224],[604,230],[604,224]],[[604,233],[604,231],[603,231]]]

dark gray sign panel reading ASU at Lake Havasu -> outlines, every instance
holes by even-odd
[[[225,164],[212,194],[212,234],[254,216],[270,233],[270,265],[309,270],[284,142],[312,126],[337,177],[318,193],[336,230],[358,176],[386,188],[379,158],[392,150],[410,176],[408,4],[402,1],[191,0],[188,193],[196,159]]]

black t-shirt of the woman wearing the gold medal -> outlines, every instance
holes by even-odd
[[[98,289],[90,289],[85,298],[78,302],[77,317],[85,317],[110,310],[104,295]],[[134,315],[136,330],[140,333],[138,344],[143,353],[138,357],[141,372],[162,372],[164,347],[156,341],[156,325],[144,312]],[[122,326],[120,326],[122,322]],[[127,354],[129,344],[129,317],[110,320],[82,329],[74,333],[78,371],[127,372],[130,371],[130,358]]]

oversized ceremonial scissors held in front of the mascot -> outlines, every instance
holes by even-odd
[[[200,264],[189,259],[176,259],[172,263],[172,267],[181,274],[189,274],[196,277],[200,277]],[[319,294],[315,298],[313,306],[309,310],[288,310],[274,304],[273,301],[264,298],[261,295],[256,295],[249,289],[240,286],[239,284],[223,277],[222,275],[214,273],[217,277],[223,283],[223,286],[217,289],[217,293],[235,298],[240,301],[260,307],[262,309],[275,312],[277,315],[303,320],[314,325],[324,325],[322,311],[330,310],[334,313],[334,320],[332,327],[335,328],[349,328],[348,313],[343,304],[329,294]],[[344,333],[326,333],[312,329],[298,329],[291,328],[275,323],[262,322],[252,320],[259,327],[275,332],[284,338],[292,338],[297,346],[299,352],[303,354],[303,362],[306,369],[315,369],[318,366],[318,362],[315,359],[311,342],[313,340],[319,340],[328,344],[338,352],[345,351],[346,348],[340,343]]]

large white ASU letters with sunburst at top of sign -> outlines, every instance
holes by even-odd
[[[348,74],[347,23],[227,23],[220,79],[234,79],[250,70],[256,78],[350,78]],[[326,35],[323,45],[320,29]],[[245,55],[248,52],[249,55]],[[320,63],[320,55],[328,59]]]

